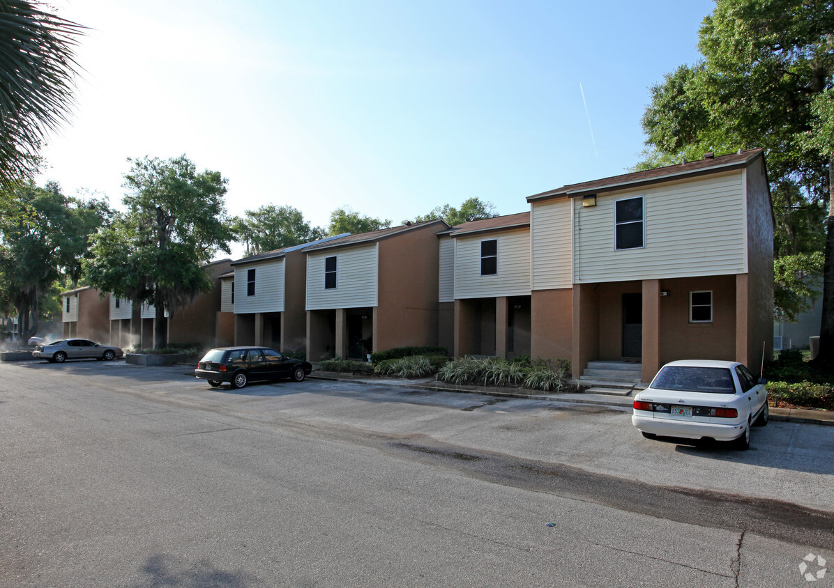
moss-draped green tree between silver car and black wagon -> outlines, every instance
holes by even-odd
[[[126,211],[98,233],[85,269],[102,292],[155,306],[154,346],[160,347],[164,311],[173,316],[179,306],[207,292],[212,282],[204,264],[218,250],[229,252],[227,180],[220,172],[197,172],[184,155],[128,162]]]

